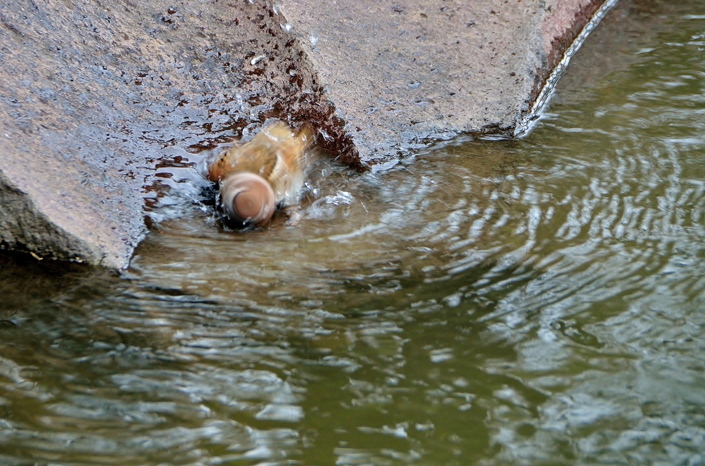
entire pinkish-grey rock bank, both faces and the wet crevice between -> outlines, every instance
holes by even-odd
[[[127,267],[173,172],[271,118],[351,165],[514,134],[599,4],[8,0],[0,246]]]

